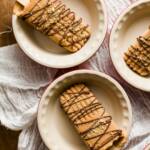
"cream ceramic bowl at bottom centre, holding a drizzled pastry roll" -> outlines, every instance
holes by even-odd
[[[85,83],[112,115],[117,125],[130,131],[131,104],[123,88],[103,73],[78,70],[56,79],[42,96],[38,110],[41,137],[51,150],[86,150],[72,124],[60,108],[58,97],[69,86]]]

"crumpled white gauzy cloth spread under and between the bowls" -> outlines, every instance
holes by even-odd
[[[109,35],[117,16],[134,0],[105,0],[108,31],[98,52],[84,64],[71,69],[52,69],[29,59],[17,44],[0,48],[0,122],[23,129],[19,150],[47,150],[37,128],[37,107],[45,88],[59,75],[74,69],[93,69],[115,78],[127,92],[133,107],[133,125],[125,150],[143,150],[150,143],[150,93],[135,89],[116,72],[109,55]],[[65,149],[62,149],[65,150]]]

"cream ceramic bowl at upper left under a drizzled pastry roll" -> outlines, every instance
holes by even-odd
[[[14,34],[22,50],[34,61],[53,68],[73,67],[89,59],[103,42],[107,30],[106,8],[103,0],[63,1],[92,28],[91,38],[76,53],[67,52],[13,15]]]

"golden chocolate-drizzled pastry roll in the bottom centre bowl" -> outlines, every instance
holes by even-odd
[[[60,96],[68,118],[89,150],[120,150],[127,141],[112,117],[84,84],[70,87]]]

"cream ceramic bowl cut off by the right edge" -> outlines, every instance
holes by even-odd
[[[150,92],[150,78],[134,73],[124,62],[123,54],[150,25],[150,0],[131,5],[116,21],[110,36],[110,54],[118,73],[131,85]]]

